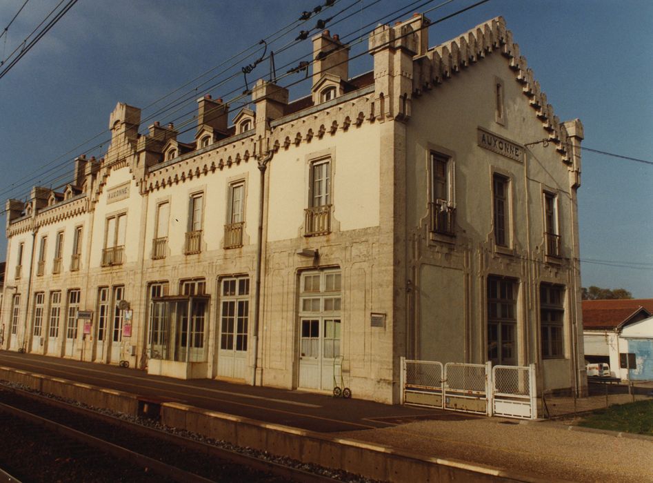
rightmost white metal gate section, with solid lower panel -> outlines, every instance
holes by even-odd
[[[536,419],[535,364],[492,368],[492,413],[524,420]]]

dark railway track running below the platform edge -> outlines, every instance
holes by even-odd
[[[17,425],[17,435],[7,434]],[[74,474],[68,474],[66,481],[342,481],[6,386],[0,388],[0,428],[1,440],[23,440],[13,448],[1,449],[0,466],[25,481],[56,481],[52,475],[41,479],[39,473],[67,464],[72,469],[64,469],[64,473]],[[35,454],[38,444],[57,453],[50,455],[49,462],[44,457],[40,467],[34,464],[41,458]],[[9,450],[16,446],[23,446],[24,456],[34,469],[32,474],[26,474],[29,462],[20,464],[17,455],[10,456]],[[5,461],[5,455],[9,455],[9,461]],[[106,471],[117,470],[118,475],[107,473],[106,479],[98,479],[98,467],[105,466]]]

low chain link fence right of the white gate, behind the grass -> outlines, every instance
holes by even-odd
[[[630,384],[609,384],[587,380],[588,394],[585,397],[574,393],[543,393],[541,411],[546,418],[572,417],[596,409],[604,409],[612,404],[626,404],[653,397],[653,382],[633,381]]]

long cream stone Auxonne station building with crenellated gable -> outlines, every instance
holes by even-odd
[[[325,392],[341,366],[386,403],[401,357],[582,392],[583,126],[503,18],[426,26],[376,28],[357,77],[321,32],[306,97],[259,80],[229,124],[206,95],[190,142],[118,103],[103,159],[6,202],[2,348]]]

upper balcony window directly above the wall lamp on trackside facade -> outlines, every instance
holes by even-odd
[[[310,165],[308,208],[305,210],[305,236],[331,233],[331,160]]]

